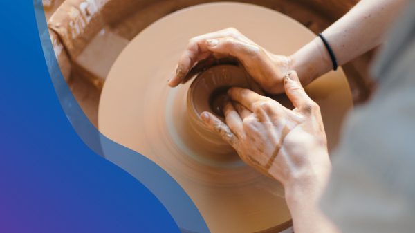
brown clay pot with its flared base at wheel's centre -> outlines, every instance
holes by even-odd
[[[198,157],[220,165],[239,164],[241,160],[232,147],[223,141],[199,117],[204,111],[210,111],[223,119],[221,111],[228,99],[226,91],[230,86],[239,86],[257,91],[259,86],[252,77],[239,65],[216,65],[196,75],[187,91],[185,130],[176,130],[178,137],[185,140],[187,147],[197,151]],[[177,103],[180,104],[180,103]],[[174,124],[174,123],[173,123]],[[198,143],[203,142],[203,143]]]

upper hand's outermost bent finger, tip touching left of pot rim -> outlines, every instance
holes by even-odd
[[[226,28],[216,32],[207,33],[190,39],[187,44],[186,50],[181,55],[176,71],[174,75],[169,79],[169,86],[177,86],[181,83],[183,77],[190,71],[190,68],[199,62],[201,59],[205,59],[212,55],[212,51],[208,49],[208,39],[221,38],[221,37],[239,37],[239,32],[234,28]]]

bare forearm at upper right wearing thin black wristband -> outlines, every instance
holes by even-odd
[[[405,0],[362,0],[322,33],[339,65],[382,44]],[[304,84],[331,71],[333,64],[320,37],[291,55],[291,68]]]

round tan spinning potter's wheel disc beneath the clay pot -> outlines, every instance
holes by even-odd
[[[280,185],[237,156],[218,156],[203,148],[203,140],[194,141],[186,114],[190,82],[167,86],[191,37],[230,26],[282,55],[315,37],[291,18],[248,4],[211,3],[175,12],[143,30],[122,51],[104,84],[98,124],[105,136],[142,153],[175,178],[212,232],[279,232],[291,219]],[[321,106],[332,148],[352,105],[344,73],[324,75],[306,90]]]

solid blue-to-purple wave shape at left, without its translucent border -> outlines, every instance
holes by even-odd
[[[0,22],[0,232],[180,232],[149,189],[66,119],[33,0],[3,1]]]

